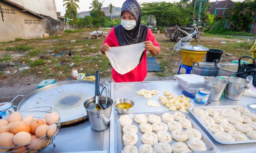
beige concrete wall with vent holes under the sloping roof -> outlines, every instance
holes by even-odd
[[[14,40],[15,38],[43,37],[43,23],[39,18],[26,12],[20,12],[17,8],[3,2],[0,2],[0,5],[3,12],[5,12],[5,8],[13,9],[15,12],[15,14],[3,13],[4,22],[2,18],[0,20],[0,42]],[[30,23],[25,24],[24,20],[28,20]]]

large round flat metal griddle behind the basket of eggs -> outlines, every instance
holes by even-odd
[[[100,90],[102,87],[103,84],[100,84]],[[52,107],[59,112],[61,125],[69,125],[88,118],[84,101],[94,95],[94,81],[63,81],[33,91],[20,101],[17,111],[33,107]],[[106,95],[106,90],[102,95]]]

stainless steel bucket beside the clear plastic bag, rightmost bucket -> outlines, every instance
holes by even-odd
[[[225,77],[228,85],[225,88],[225,97],[231,100],[239,101],[243,96],[245,89],[249,89],[249,81],[240,77]]]

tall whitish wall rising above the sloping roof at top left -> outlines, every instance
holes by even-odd
[[[11,0],[34,12],[47,15],[58,20],[55,0]]]

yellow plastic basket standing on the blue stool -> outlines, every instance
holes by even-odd
[[[207,53],[207,51],[187,51],[184,49],[181,49],[182,51],[182,63],[186,66],[192,67],[193,62],[202,62],[204,54]]]

